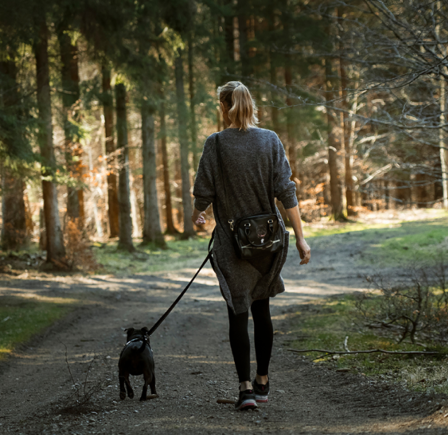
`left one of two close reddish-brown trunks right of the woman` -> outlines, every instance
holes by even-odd
[[[325,98],[327,101],[327,125],[328,125],[328,166],[330,170],[331,209],[335,220],[345,219],[343,213],[342,179],[340,176],[339,162],[341,152],[341,140],[338,135],[338,116],[331,109],[335,100],[336,78],[332,69],[330,58],[325,59]]]

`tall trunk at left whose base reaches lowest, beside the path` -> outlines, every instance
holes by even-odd
[[[42,192],[44,200],[47,262],[66,267],[64,240],[59,220],[58,192],[55,175],[56,159],[51,124],[50,70],[48,64],[48,28],[45,15],[39,17],[39,35],[34,44],[36,58],[37,107],[39,112],[39,146],[42,155]]]

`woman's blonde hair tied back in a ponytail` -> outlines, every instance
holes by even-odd
[[[227,82],[218,88],[219,101],[229,110],[232,124],[246,131],[258,124],[257,107],[252,95],[241,82]]]

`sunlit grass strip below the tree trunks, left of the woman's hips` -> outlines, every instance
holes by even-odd
[[[209,241],[209,237],[171,240],[167,241],[168,249],[136,245],[136,253],[118,251],[116,243],[95,244],[93,250],[97,261],[104,267],[103,272],[118,275],[155,273],[199,267],[207,255]]]

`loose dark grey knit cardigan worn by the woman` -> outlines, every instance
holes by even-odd
[[[215,149],[216,134],[220,138],[222,174],[226,178],[231,216],[227,216],[223,202],[224,187]],[[290,177],[291,169],[283,145],[273,131],[228,128],[212,134],[205,142],[194,183],[195,207],[204,211],[213,204],[216,219],[214,269],[222,295],[236,314],[247,311],[253,301],[273,297],[285,290],[280,271],[286,261],[289,233],[285,234],[284,248],[280,253],[249,262],[237,257],[227,221],[273,211],[274,197],[287,209],[295,207],[296,187]],[[284,227],[277,208],[275,212]]]

